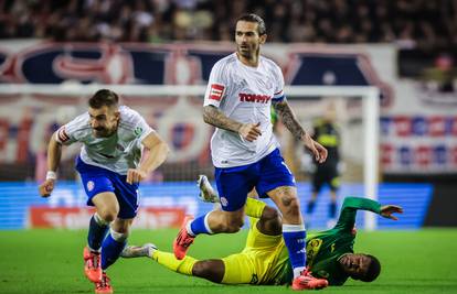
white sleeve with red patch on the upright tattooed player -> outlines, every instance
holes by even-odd
[[[217,62],[211,69],[206,91],[204,94],[203,106],[215,106],[219,108],[226,96],[227,90],[227,72],[224,63]]]

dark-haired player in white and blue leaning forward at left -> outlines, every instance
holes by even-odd
[[[40,185],[40,194],[50,196],[55,186],[62,145],[83,143],[76,171],[88,197],[87,205],[96,208],[84,248],[84,270],[95,283],[95,293],[113,293],[105,271],[126,246],[138,210],[139,182],[168,154],[168,145],[145,119],[137,111],[119,106],[117,94],[98,90],[88,100],[87,112],[52,135],[47,149],[49,172],[46,181]],[[139,164],[142,148],[150,152]]]

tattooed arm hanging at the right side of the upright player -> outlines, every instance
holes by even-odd
[[[284,99],[278,102],[273,102],[273,106],[281,118],[284,126],[286,126],[295,138],[304,143],[304,145],[312,153],[316,161],[319,163],[325,162],[327,160],[327,149],[312,140],[312,138],[304,130],[287,100]]]

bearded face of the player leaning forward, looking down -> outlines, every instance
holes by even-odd
[[[98,109],[89,107],[88,113],[94,137],[110,137],[117,130],[117,123],[119,121],[119,111],[117,109],[107,106]]]

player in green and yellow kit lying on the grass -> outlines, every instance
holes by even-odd
[[[216,200],[206,179],[201,182],[202,198]],[[364,282],[374,281],[381,272],[379,260],[370,254],[353,253],[357,210],[370,210],[394,219],[394,213],[403,213],[400,206],[381,206],[379,203],[358,197],[344,199],[337,225],[307,238],[308,270],[330,285],[342,285],[352,277]],[[196,260],[185,257],[178,260],[173,254],[158,250],[153,244],[127,247],[124,258],[150,257],[159,264],[178,273],[206,279],[222,284],[283,285],[293,282],[293,269],[281,236],[281,217],[273,207],[247,198],[245,213],[251,228],[246,246],[240,253],[223,259]]]

